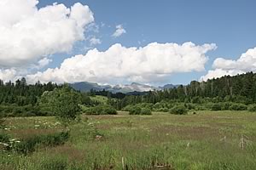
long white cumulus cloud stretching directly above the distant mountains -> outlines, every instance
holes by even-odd
[[[30,82],[160,82],[178,72],[204,71],[207,52],[215,44],[193,42],[149,43],[143,48],[114,44],[106,51],[91,49],[87,54],[65,59],[60,67],[28,75]]]

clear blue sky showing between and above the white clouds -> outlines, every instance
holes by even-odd
[[[205,71],[177,72],[168,75],[164,82],[152,82],[186,84],[191,80],[200,80],[209,70],[214,71],[212,63],[215,59],[236,61],[247,49],[256,47],[254,0],[41,0],[37,7],[44,8],[55,2],[63,3],[67,8],[74,3],[88,5],[94,14],[94,25],[99,28],[98,31],[85,31],[85,37],[88,39],[75,42],[73,50],[52,54],[52,62],[39,71],[60,67],[64,59],[76,54],[86,54],[89,48],[106,51],[115,43],[120,43],[125,48],[144,47],[150,42],[193,42],[196,45],[215,43],[218,48],[209,50],[206,54],[209,58],[204,65]],[[112,37],[118,25],[121,25],[126,33],[120,37]],[[91,46],[90,37],[96,37],[102,43]],[[226,71],[226,68],[221,69]],[[131,82],[116,82],[122,81]]]

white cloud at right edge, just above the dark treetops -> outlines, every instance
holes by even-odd
[[[208,71],[201,80],[207,81],[213,77],[223,77],[225,75],[235,76],[247,71],[256,71],[256,48],[250,48],[246,53],[241,54],[239,59],[215,59],[212,67],[214,70]]]

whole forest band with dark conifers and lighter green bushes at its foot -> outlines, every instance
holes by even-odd
[[[50,99],[51,96],[45,96],[63,87],[79,96],[75,105],[79,105],[80,111],[85,112],[94,112],[96,106],[96,108],[109,108],[109,105],[112,106],[111,109],[118,111],[128,111],[132,106],[136,106],[150,111],[168,112],[177,105],[187,111],[256,110],[256,106],[253,105],[256,101],[256,74],[253,72],[235,77],[213,78],[207,82],[192,81],[177,88],[134,94],[113,94],[105,90],[93,89],[88,93],[81,93],[67,86],[52,82],[27,84],[24,77],[15,82],[4,83],[0,80],[0,113],[2,116],[54,115],[55,112],[49,109],[50,106],[46,106],[45,100],[45,98]],[[102,104],[92,100],[93,96],[105,96],[108,99]]]

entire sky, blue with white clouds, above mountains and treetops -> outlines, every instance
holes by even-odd
[[[254,0],[0,0],[0,79],[151,85],[256,71]]]

